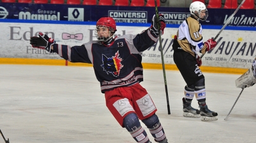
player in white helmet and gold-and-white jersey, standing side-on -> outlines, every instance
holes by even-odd
[[[201,117],[202,121],[217,120],[218,114],[209,110],[205,102],[205,77],[199,68],[202,60],[197,54],[197,52],[205,54],[208,50],[213,49],[216,42],[209,39],[203,43],[202,26],[199,21],[207,19],[208,12],[205,4],[195,1],[191,3],[189,10],[191,16],[179,26],[172,45],[174,62],[186,82],[185,97],[182,98],[183,116]],[[194,96],[196,96],[200,110],[191,106]]]

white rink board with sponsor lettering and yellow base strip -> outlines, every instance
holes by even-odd
[[[0,22],[1,26],[1,45],[0,45],[0,64],[54,64],[61,59],[57,54],[49,54],[46,50],[33,49],[30,46],[30,37],[38,35],[41,31],[54,38],[56,43],[64,45],[82,45],[89,40],[96,40],[94,35],[94,22],[84,22],[79,24],[69,23],[16,23]],[[116,36],[125,34],[137,34],[146,30],[150,26],[147,24],[124,25],[117,23]],[[204,27],[203,27],[204,28]],[[215,37],[221,26],[205,26],[203,37]],[[177,25],[167,25],[162,35],[163,59],[167,69],[177,69],[174,66],[172,43],[176,35]],[[63,35],[82,35],[80,38],[65,39]],[[256,35],[255,28],[232,28],[227,27],[223,30],[217,39],[217,46],[204,55],[202,61],[202,70],[212,72],[244,72],[248,69],[255,57],[256,42],[253,35]],[[143,52],[143,64],[145,68],[161,69],[162,58],[160,52],[160,42]],[[199,54],[200,55],[200,54]],[[15,58],[15,60],[12,60]],[[26,59],[26,60],[25,60]],[[36,60],[35,60],[36,59]],[[56,60],[56,62],[47,63],[45,59]],[[63,61],[63,65],[67,62]],[[150,66],[150,64],[152,64]],[[70,64],[69,65],[73,65]],[[75,64],[79,65],[79,64]],[[84,66],[85,64],[81,64]],[[214,68],[212,68],[214,67]],[[215,70],[217,69],[217,70]]]

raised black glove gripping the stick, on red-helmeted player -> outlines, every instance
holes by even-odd
[[[158,28],[160,26],[160,28]],[[161,35],[163,35],[163,30],[165,29],[166,24],[165,24],[165,18],[163,18],[163,14],[159,14],[159,21],[157,23],[157,16],[153,16],[152,21],[151,21],[151,30],[154,31],[155,35],[159,37],[158,30],[160,30]]]

